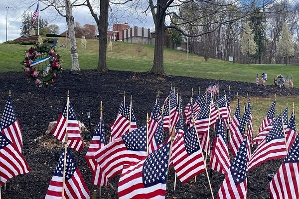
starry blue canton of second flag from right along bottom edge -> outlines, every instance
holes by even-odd
[[[230,166],[230,172],[236,185],[247,178],[247,136],[243,140],[236,157]]]

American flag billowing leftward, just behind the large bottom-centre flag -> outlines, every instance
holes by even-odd
[[[123,134],[95,153],[95,158],[110,180],[124,165],[139,162],[147,156],[147,127],[141,126]]]

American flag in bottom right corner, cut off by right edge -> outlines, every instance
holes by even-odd
[[[299,135],[269,184],[271,199],[299,199]]]

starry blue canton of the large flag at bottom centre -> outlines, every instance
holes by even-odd
[[[142,180],[146,188],[166,184],[170,142],[151,153],[144,162]]]

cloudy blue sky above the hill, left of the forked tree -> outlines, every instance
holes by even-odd
[[[26,1],[26,3],[24,3]],[[28,3],[27,3],[28,2]],[[31,2],[31,3],[30,3]],[[37,0],[0,0],[0,43],[6,40],[6,9],[7,9],[7,40],[12,40],[20,36],[20,27],[22,14],[25,11],[31,11],[32,13],[36,9]],[[39,9],[44,8],[43,3],[39,3]],[[66,30],[66,21],[64,17],[57,15],[57,12],[53,10],[43,10],[40,11],[40,17],[47,19],[49,24],[57,24],[60,28],[60,33]],[[78,21],[81,26],[84,24],[96,24],[94,18],[91,16],[90,11],[87,6],[80,6],[73,8],[73,16],[75,21]],[[134,19],[136,17],[119,17],[117,21],[119,23],[128,22],[128,24],[133,26],[153,28],[152,17],[143,16],[142,19]],[[110,27],[112,23],[110,24]]]

